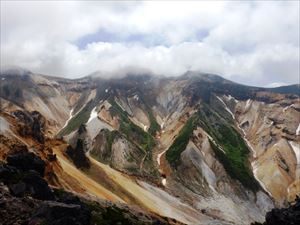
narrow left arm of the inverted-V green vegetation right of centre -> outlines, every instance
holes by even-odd
[[[176,168],[179,164],[180,155],[186,149],[195,127],[195,117],[191,117],[179,132],[177,138],[166,152],[169,164]]]

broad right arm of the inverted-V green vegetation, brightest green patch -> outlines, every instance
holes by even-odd
[[[245,187],[257,191],[259,185],[249,169],[249,150],[240,134],[205,105],[198,111],[198,117],[201,126],[216,142],[210,144],[227,173]]]

